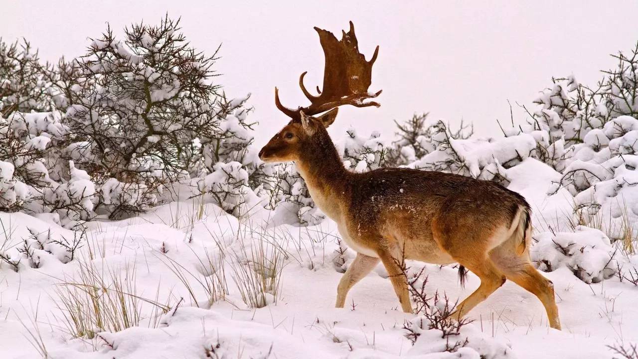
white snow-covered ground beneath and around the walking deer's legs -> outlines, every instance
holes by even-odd
[[[421,319],[401,312],[381,265],[353,287],[345,308],[334,308],[336,286],[354,252],[340,250],[333,222],[309,227],[274,225],[267,211],[240,222],[217,206],[195,199],[165,204],[128,220],[88,222],[72,260],[71,251],[53,241],[73,243],[80,233],[46,216],[0,213],[4,226],[0,245],[6,242],[5,253],[13,253],[16,259],[23,239],[43,243],[43,249],[32,246],[36,248],[32,261],[22,254],[17,271],[6,261],[0,266],[0,358],[41,357],[36,347],[49,358],[69,359],[612,358],[607,345],[638,341],[638,286],[628,280],[629,268],[638,264],[638,257],[616,253],[613,264],[602,264],[607,271],[622,266],[627,279],[619,280],[613,271],[606,273],[597,264],[605,256],[609,259],[605,248],[612,248],[602,233],[584,227],[563,234],[545,232],[547,226],[560,227],[561,221],[567,221],[563,213],[572,209],[566,199],[570,196],[560,191],[545,195],[555,172],[536,160],[530,158],[514,169],[508,173],[513,179],[510,188],[525,195],[535,210],[538,243],[533,256],[554,266],[544,274],[555,285],[562,331],[549,328],[537,298],[506,282],[470,312],[473,322],[460,335],[443,339],[440,331],[417,329],[420,336],[412,344],[404,326],[413,323],[414,328]],[[570,238],[585,243],[579,236],[590,247],[570,246]],[[577,254],[558,256],[558,244],[547,245],[547,241],[561,243],[567,251],[575,249]],[[256,270],[253,259],[260,254],[281,259],[283,269],[278,298],[265,294],[258,299],[268,305],[255,309],[242,301],[237,268]],[[410,263],[410,268],[422,265]],[[590,273],[596,268],[601,272]],[[129,302],[135,294],[134,306],[140,313],[137,326],[73,339],[60,296],[77,288],[70,283],[79,283],[80,276],[91,270],[107,286],[114,277],[126,279],[124,289],[97,288],[96,293],[126,292]],[[454,266],[426,264],[424,275],[428,276],[427,293],[445,293],[451,302],[462,300],[479,285],[477,277],[470,275],[461,289]],[[598,275],[607,279],[598,281],[594,278]],[[219,284],[221,278],[228,294],[211,304],[200,281]],[[466,338],[466,348],[441,353],[446,344]]]

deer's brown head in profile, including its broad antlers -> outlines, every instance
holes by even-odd
[[[279,101],[279,91],[275,88],[275,105],[279,111],[291,118],[288,125],[279,131],[259,152],[259,158],[265,162],[284,162],[299,159],[304,150],[311,150],[316,144],[318,132],[325,131],[337,117],[338,107],[353,105],[355,107],[379,107],[378,102],[364,102],[380,95],[368,93],[371,84],[372,65],[379,53],[375,49],[370,61],[359,53],[359,45],[355,29],[350,22],[350,31],[343,31],[341,41],[330,31],[315,27],[325,55],[323,70],[323,91],[317,86],[318,95],[312,95],[304,86],[304,72],[299,77],[299,87],[310,100],[307,107],[288,109]]]

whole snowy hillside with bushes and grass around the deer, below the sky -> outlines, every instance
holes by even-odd
[[[168,17],[87,46],[50,65],[0,40],[0,358],[638,359],[638,48],[598,88],[554,79],[492,137],[427,114],[333,136],[353,172],[523,195],[559,331],[511,281],[451,319],[480,283],[457,264],[405,263],[413,313],[381,264],[335,308],[356,252],[301,170],[260,160],[217,55]]]

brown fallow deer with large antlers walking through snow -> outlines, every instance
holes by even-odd
[[[459,263],[461,285],[466,270],[479,287],[459,303],[450,317],[461,320],[471,309],[511,280],[537,296],[551,328],[560,330],[554,285],[530,259],[531,209],[520,194],[494,181],[410,168],[351,172],[345,168],[327,128],[342,105],[379,107],[369,93],[372,66],[359,52],[354,26],[338,40],[315,27],[325,56],[323,88],[318,95],[299,87],[310,101],[290,109],[275,105],[290,118],[261,149],[263,162],[294,162],[316,206],[336,222],[338,232],[357,252],[337,287],[336,307],[348,291],[381,262],[404,312],[412,312],[404,259],[433,264]],[[404,273],[403,273],[404,274]]]

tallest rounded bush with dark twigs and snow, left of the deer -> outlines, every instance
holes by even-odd
[[[124,33],[117,40],[107,29],[75,61],[83,77],[68,94],[68,156],[98,187],[144,192],[128,198],[142,201],[131,208],[137,212],[152,204],[149,198],[158,197],[163,184],[198,168],[199,141],[216,137],[218,114],[226,109],[216,103],[218,86],[211,82],[215,55],[190,47],[179,20],[133,25]]]

